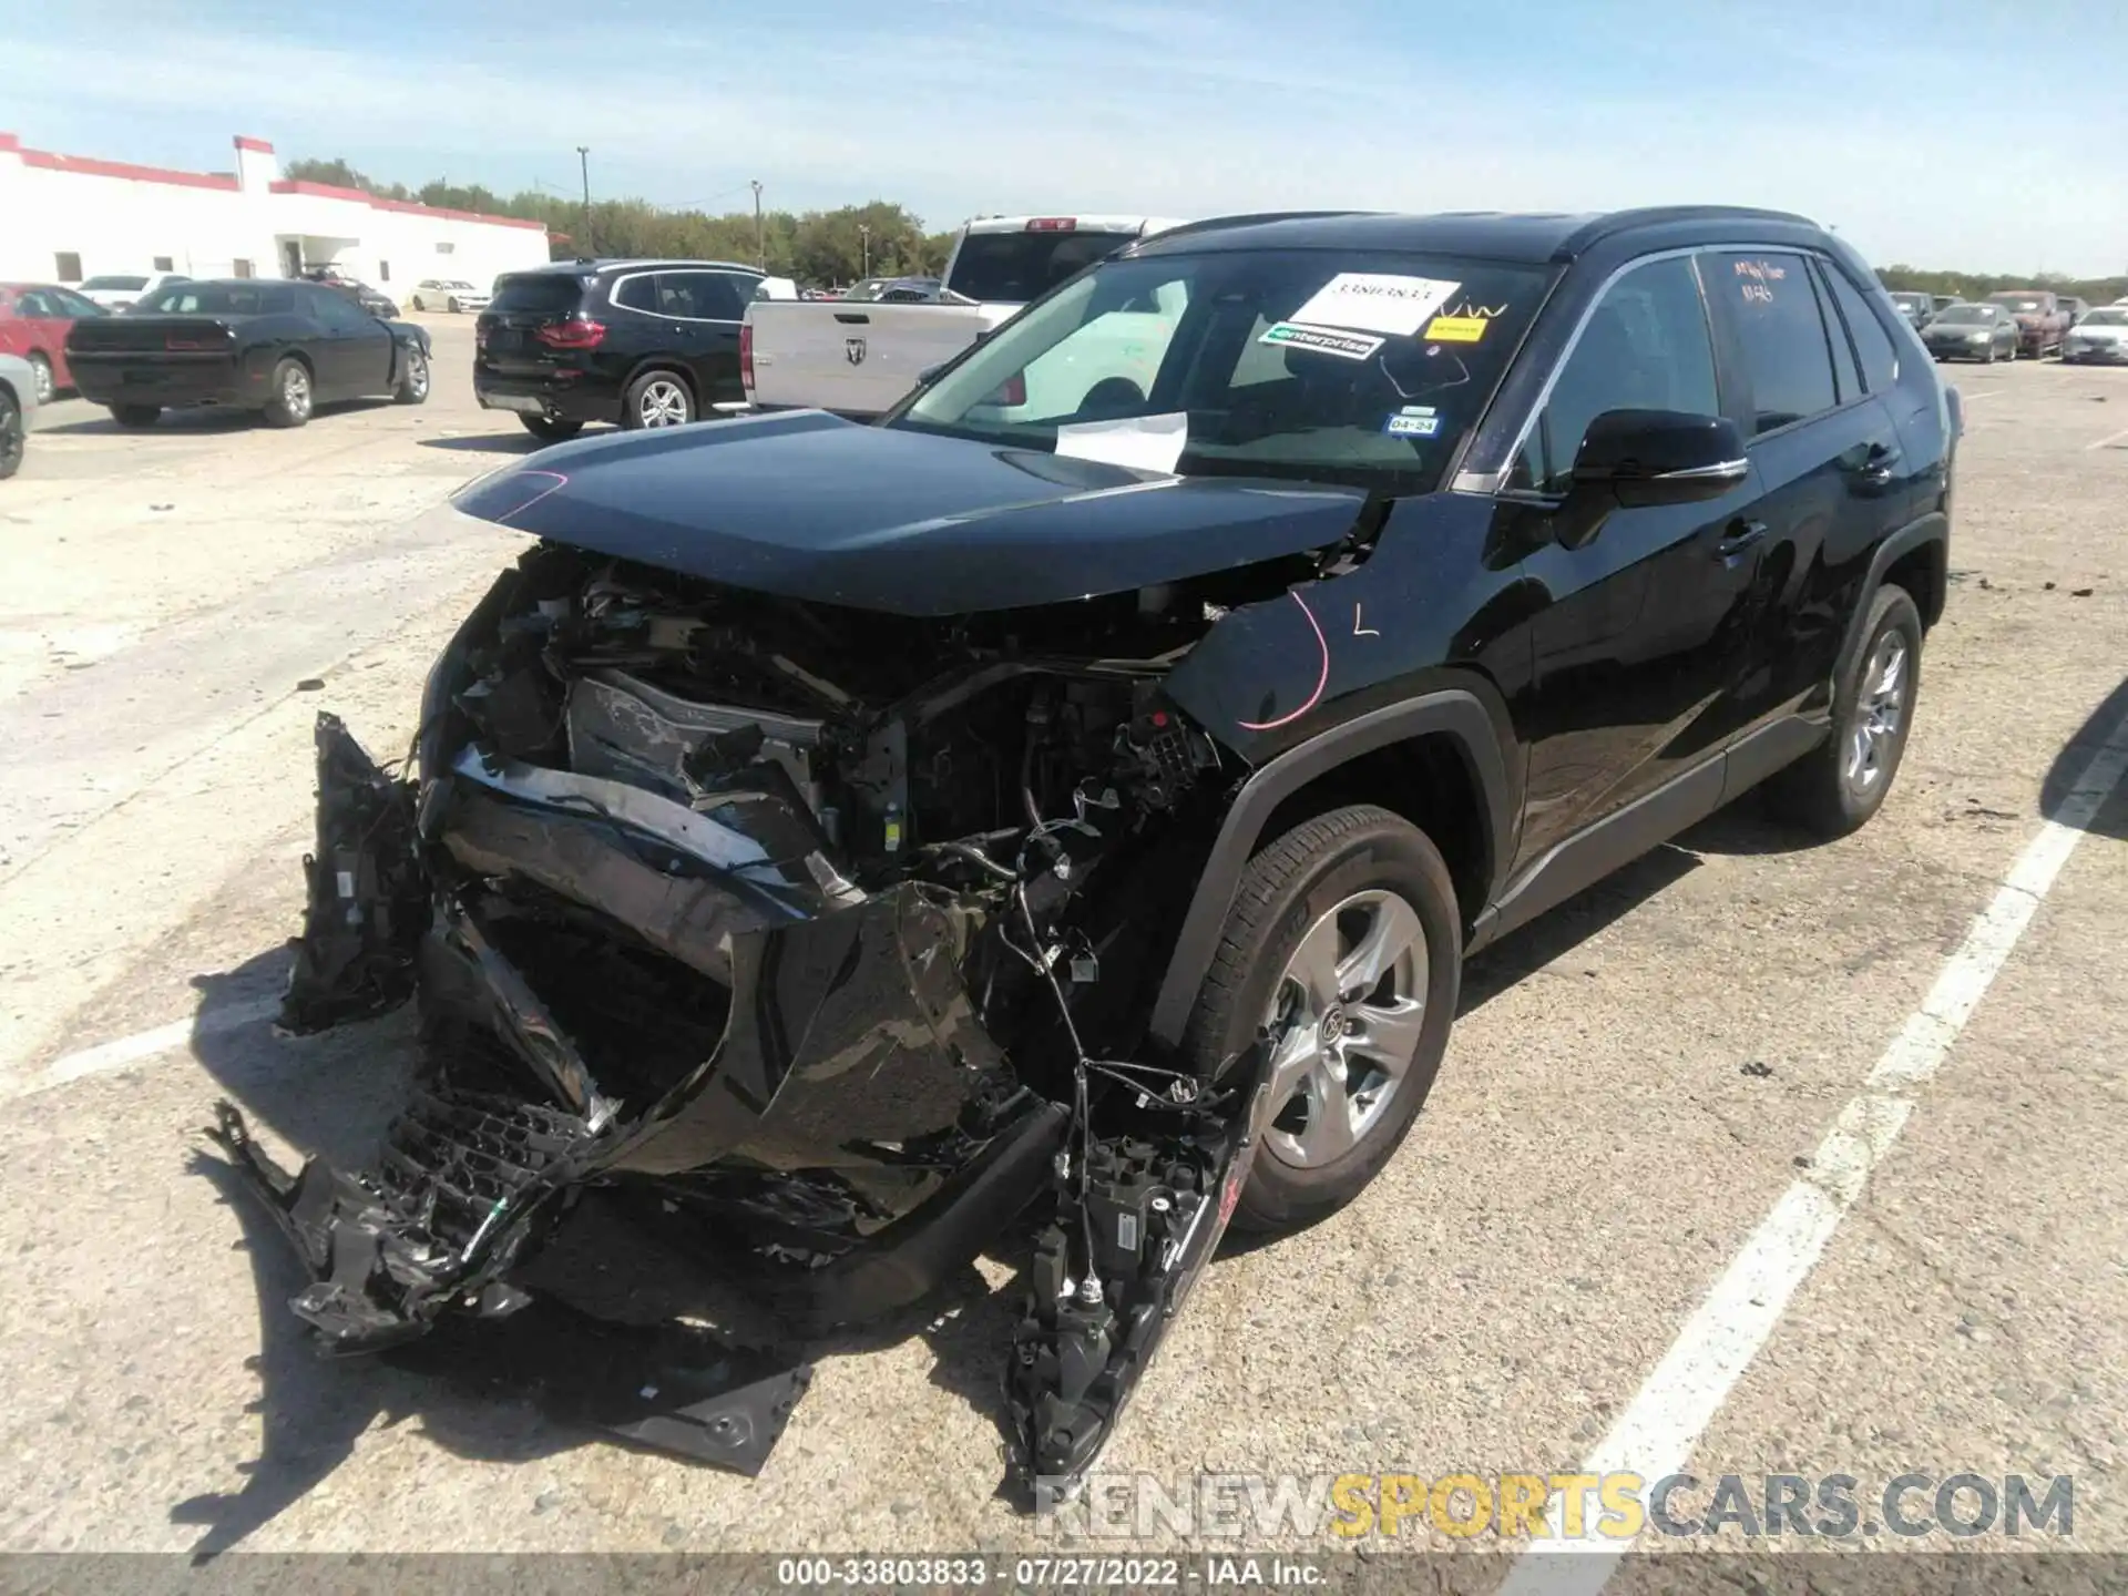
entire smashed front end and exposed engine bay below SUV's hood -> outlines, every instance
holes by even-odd
[[[289,1173],[223,1104],[296,1313],[330,1351],[513,1319],[602,1185],[802,1345],[1017,1224],[1015,1466],[1077,1479],[1253,1156],[1266,1049],[1202,1077],[1145,1026],[1247,775],[1162,683],[1264,587],[911,619],[534,547],[438,660],[411,775],[319,717],[283,1028],[415,1000],[423,1068],[360,1173]],[[609,1428],[753,1470],[804,1387],[758,1353]]]

